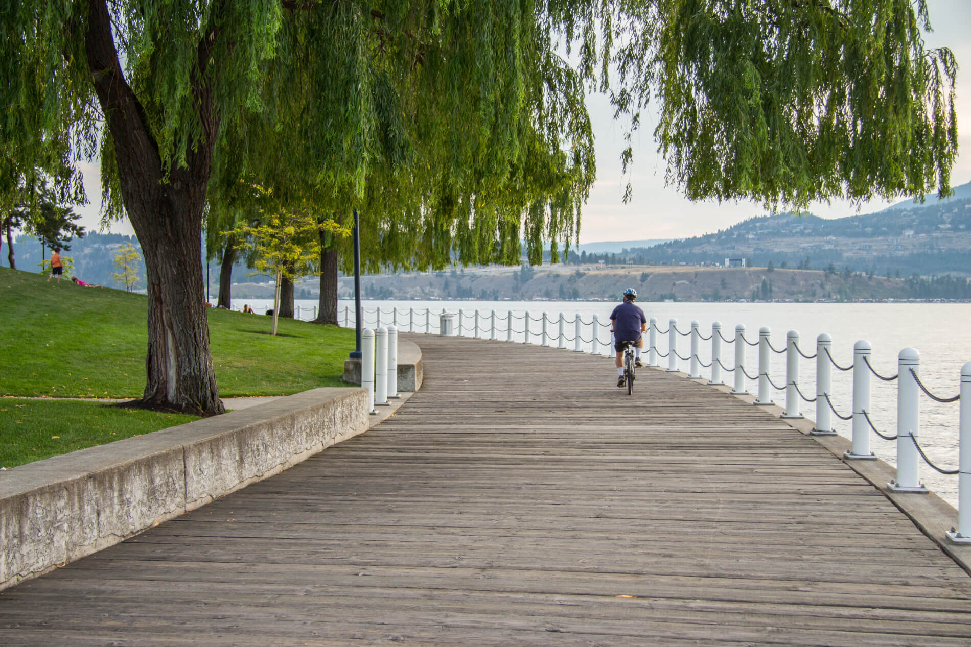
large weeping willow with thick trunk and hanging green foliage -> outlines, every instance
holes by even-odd
[[[656,101],[692,199],[947,193],[955,66],[926,19],[923,0],[22,0],[0,12],[0,137],[25,160],[100,152],[145,253],[143,400],[217,413],[212,187],[358,205],[375,264],[516,262],[523,239],[535,262],[579,231],[586,84],[630,132]]]

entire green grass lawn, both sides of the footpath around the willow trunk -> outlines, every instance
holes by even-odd
[[[221,397],[280,396],[341,381],[352,330],[209,309]],[[140,398],[148,346],[144,295],[0,268],[0,395]],[[76,401],[0,399],[0,467],[195,420]]]

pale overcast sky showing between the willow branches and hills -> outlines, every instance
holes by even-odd
[[[971,0],[927,0],[932,33],[925,35],[926,47],[948,47],[954,51],[957,74],[957,124],[960,151],[971,151]],[[628,178],[620,175],[623,127],[613,121],[614,111],[602,96],[588,97],[587,106],[596,137],[597,181],[583,210],[581,243],[600,241],[637,241],[696,236],[717,231],[764,211],[753,203],[698,202],[686,200],[676,186],[664,186],[664,161],[657,154],[653,139],[653,115],[642,115],[640,132],[634,142],[634,165],[630,178],[633,200],[624,205],[621,198]],[[77,209],[84,215],[84,226],[97,230],[101,204],[97,164],[82,164],[84,185],[91,204]],[[954,163],[952,186],[971,181],[971,152],[959,155]],[[882,210],[883,201],[863,205],[859,212]],[[845,202],[814,204],[811,211],[825,218],[838,218],[857,212]],[[112,231],[133,233],[127,222],[115,223]]]

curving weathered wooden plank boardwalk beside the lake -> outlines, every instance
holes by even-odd
[[[971,644],[964,570],[763,409],[413,339],[395,416],[0,593],[0,644]]]

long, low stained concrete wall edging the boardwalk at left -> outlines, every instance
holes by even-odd
[[[323,388],[0,472],[0,589],[90,555],[368,429]]]

